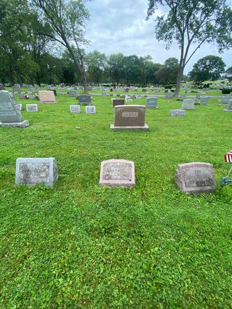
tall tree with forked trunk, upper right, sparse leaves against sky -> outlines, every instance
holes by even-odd
[[[147,20],[158,4],[167,6],[169,12],[157,17],[156,38],[165,41],[166,49],[175,39],[181,50],[174,93],[178,96],[184,68],[203,43],[216,44],[219,53],[232,46],[232,10],[225,0],[149,0]]]

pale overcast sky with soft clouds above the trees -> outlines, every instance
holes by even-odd
[[[232,0],[227,3],[232,6]],[[154,19],[156,15],[164,13],[165,7],[160,6],[156,14],[145,21],[147,0],[94,0],[87,2],[86,6],[92,15],[86,27],[86,38],[91,40],[87,52],[97,49],[106,55],[150,54],[153,61],[159,63],[169,57],[179,59],[180,50],[175,42],[167,51],[164,42],[158,42],[154,35]],[[192,69],[198,59],[207,55],[219,55],[225,61],[226,67],[232,66],[231,54],[231,49],[220,55],[216,46],[203,44],[187,64],[184,74]]]

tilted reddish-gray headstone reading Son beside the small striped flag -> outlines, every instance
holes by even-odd
[[[213,165],[210,163],[178,164],[175,182],[181,191],[188,194],[207,194],[217,189]]]

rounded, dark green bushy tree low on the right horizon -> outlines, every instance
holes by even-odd
[[[217,80],[221,73],[225,71],[225,66],[226,63],[221,57],[205,56],[195,63],[188,77],[194,81],[195,85],[199,85],[206,80]]]

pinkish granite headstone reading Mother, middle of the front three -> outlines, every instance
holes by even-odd
[[[99,186],[135,187],[134,162],[122,159],[102,161]]]

